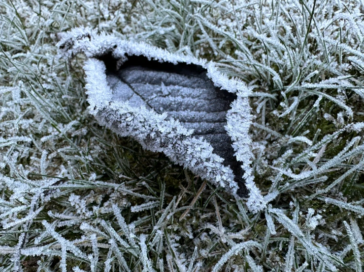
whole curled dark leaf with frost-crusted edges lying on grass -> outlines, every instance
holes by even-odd
[[[234,196],[249,194],[253,212],[275,197],[263,197],[253,181],[251,90],[243,82],[228,79],[213,62],[144,43],[84,28],[61,35],[62,56],[88,57],[89,109],[101,125],[163,152]]]

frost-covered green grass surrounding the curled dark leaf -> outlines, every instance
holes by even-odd
[[[1,271],[363,269],[364,5],[335,1],[0,2]],[[244,201],[100,127],[85,26],[219,62],[253,88]]]

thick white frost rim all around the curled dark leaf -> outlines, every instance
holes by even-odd
[[[121,136],[132,136],[146,149],[165,153],[172,162],[184,165],[195,174],[237,196],[238,185],[233,180],[232,170],[222,164],[221,157],[212,153],[212,146],[208,142],[191,136],[192,131],[184,128],[178,120],[165,120],[165,113],[158,114],[143,106],[132,107],[128,102],[113,101],[112,90],[106,81],[105,65],[94,57],[106,53],[111,53],[117,59],[125,58],[125,54],[143,55],[159,62],[195,64],[205,68],[207,76],[215,86],[238,96],[227,113],[226,130],[232,137],[237,161],[243,163],[243,179],[246,180],[249,190],[249,209],[255,213],[263,210],[266,203],[274,198],[276,192],[263,197],[253,180],[251,139],[248,134],[252,115],[247,98],[251,94],[251,88],[243,82],[221,74],[213,62],[193,56],[171,54],[145,43],[125,41],[105,34],[96,35],[86,28],[76,28],[63,34],[58,46],[63,51],[63,57],[69,58],[79,52],[84,52],[89,57],[84,66],[89,109],[101,125]]]

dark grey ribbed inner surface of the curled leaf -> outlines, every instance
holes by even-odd
[[[224,128],[227,110],[235,96],[215,87],[205,70],[186,71],[182,67],[180,72],[178,65],[168,70],[160,69],[159,63],[158,69],[151,67],[153,62],[147,67],[137,61],[127,63],[117,71],[107,72],[113,100],[129,101],[133,107],[144,105],[158,113],[167,112],[184,127],[194,129],[193,135],[203,136],[211,144],[214,153],[232,168],[239,188],[245,188],[240,163],[233,156],[231,138]]]

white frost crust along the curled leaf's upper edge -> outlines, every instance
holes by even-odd
[[[207,70],[207,76],[215,86],[235,93],[241,91],[243,97],[248,97],[252,91],[239,79],[229,79],[226,75],[218,72],[215,64],[205,59],[196,58],[191,55],[171,54],[168,51],[151,46],[146,43],[135,43],[133,41],[121,40],[118,37],[100,34],[96,35],[92,30],[85,27],[77,27],[63,33],[61,41],[57,46],[62,50],[59,57],[70,58],[83,52],[88,57],[100,56],[111,52],[115,58],[125,58],[125,54],[142,55],[148,59],[159,62],[170,62],[173,64],[186,63],[202,66]],[[250,107],[248,108],[250,111]]]

